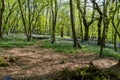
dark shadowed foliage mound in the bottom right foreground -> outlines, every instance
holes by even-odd
[[[53,80],[118,80],[119,75],[112,76],[115,73],[105,72],[108,76],[106,77],[103,73],[95,68],[85,67],[78,68],[76,70],[64,69],[61,73],[56,76]]]

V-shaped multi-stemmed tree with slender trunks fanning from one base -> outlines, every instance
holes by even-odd
[[[22,22],[23,22],[23,26],[24,26],[24,31],[25,31],[25,35],[27,36],[28,41],[30,41],[32,38],[32,32],[35,28],[37,21],[38,21],[41,9],[43,9],[46,6],[43,3],[45,6],[42,6],[42,8],[39,9],[36,7],[35,2],[36,1],[27,0],[27,1],[23,1],[21,3],[21,1],[18,0],[20,12],[21,12],[21,17],[22,17]],[[24,5],[24,7],[22,5]],[[36,10],[38,10],[38,14],[35,17]]]

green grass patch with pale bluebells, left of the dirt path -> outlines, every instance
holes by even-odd
[[[26,37],[23,34],[10,34],[5,35],[0,39],[1,48],[13,48],[13,47],[24,47],[33,45],[35,40],[27,41]]]

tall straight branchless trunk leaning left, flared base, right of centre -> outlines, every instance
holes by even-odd
[[[81,46],[78,43],[78,40],[76,37],[76,32],[75,32],[75,20],[74,20],[73,1],[72,0],[70,0],[70,17],[71,17],[71,26],[72,26],[74,47],[81,48]]]

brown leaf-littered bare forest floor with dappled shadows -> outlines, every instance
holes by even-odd
[[[93,53],[85,52],[62,54],[53,49],[40,47],[41,43],[42,41],[38,41],[37,45],[24,48],[0,48],[0,56],[16,58],[16,61],[8,67],[0,67],[0,80],[6,76],[15,80],[17,78],[24,80],[23,77],[27,80],[30,78],[33,80],[32,77],[37,80],[49,80],[49,77],[56,76],[57,72],[65,68],[74,70],[78,67],[89,66],[89,62],[97,57]],[[111,58],[96,59],[95,64],[99,68],[111,68],[117,64],[117,60]]]

